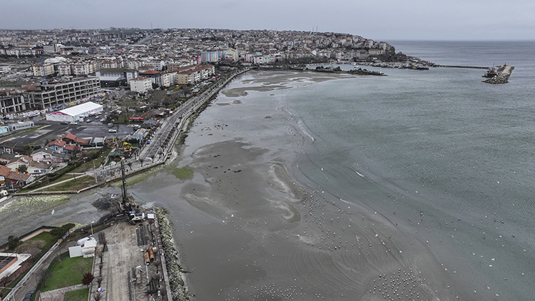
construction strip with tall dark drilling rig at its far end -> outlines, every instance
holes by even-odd
[[[131,151],[128,143],[124,143],[124,148]],[[123,160],[121,175],[121,201],[116,202],[118,213],[113,219],[122,218],[128,223],[110,223],[109,228],[98,233],[100,251],[93,262],[93,275],[101,282],[92,282],[90,297],[99,295],[99,300],[120,301],[173,300],[158,217],[156,213],[140,210],[128,196]]]

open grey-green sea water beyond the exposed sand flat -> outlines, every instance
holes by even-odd
[[[417,231],[437,259],[474,290],[493,290],[489,297],[496,300],[502,300],[496,296],[504,295],[500,290],[514,300],[531,300],[535,43],[393,44],[435,63],[507,63],[515,69],[510,83],[500,86],[481,83],[481,69],[383,68],[387,78],[290,90],[285,96],[290,111],[317,141],[297,159],[297,177],[367,203]],[[328,180],[317,173],[320,166],[331,170]],[[360,175],[377,190],[362,191]],[[397,218],[400,211],[403,219]]]

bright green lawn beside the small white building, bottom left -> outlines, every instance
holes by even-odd
[[[68,252],[61,254],[61,260],[55,259],[49,266],[50,276],[41,291],[57,290],[61,287],[79,285],[82,283],[83,273],[91,272],[94,257],[68,257]]]

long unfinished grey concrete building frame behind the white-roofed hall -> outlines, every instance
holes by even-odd
[[[29,91],[30,106],[37,110],[56,108],[64,103],[81,101],[101,93],[101,80],[98,77],[81,78],[66,83],[49,83]]]

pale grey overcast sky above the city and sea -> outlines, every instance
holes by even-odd
[[[376,41],[535,39],[535,0],[3,0],[0,7],[0,29],[317,26]]]

